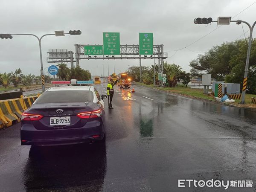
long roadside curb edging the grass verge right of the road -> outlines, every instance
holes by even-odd
[[[137,83],[135,82],[135,84],[137,84]],[[140,85],[140,84],[137,84],[137,85]],[[146,87],[144,85],[140,85],[140,86],[148,88],[148,89],[153,89],[153,90],[156,90],[156,91],[160,91],[160,92],[163,92],[163,93],[168,93],[170,95],[183,96],[183,97],[187,97],[187,98],[191,98],[191,99],[197,99],[197,100],[201,100],[201,101],[215,103],[215,104],[218,104],[218,105],[226,105],[226,106],[230,106],[230,107],[236,107],[236,108],[240,108],[240,109],[247,109],[247,110],[250,110],[250,111],[256,111],[256,108],[240,107],[240,106],[233,105],[233,104],[230,104],[230,103],[223,103],[223,102],[213,101],[213,100],[210,100],[210,99],[204,99],[204,98],[185,95],[185,94],[181,94],[181,93],[173,93],[173,92],[169,92],[169,91],[165,91],[165,90],[159,90],[157,88]]]

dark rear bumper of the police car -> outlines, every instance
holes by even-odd
[[[20,129],[21,145],[70,145],[102,140],[105,135],[105,126],[102,122],[98,125],[95,127],[85,125],[82,128],[38,130],[33,125],[24,124]]]

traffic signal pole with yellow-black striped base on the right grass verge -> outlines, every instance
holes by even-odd
[[[245,24],[247,24],[247,26],[250,29],[250,37],[249,37],[249,44],[248,44],[248,49],[247,49],[247,57],[246,57],[245,70],[244,70],[244,81],[243,81],[243,88],[242,88],[242,99],[241,99],[241,104],[244,104],[245,103],[245,91],[246,91],[246,87],[247,87],[249,60],[250,60],[250,49],[251,49],[251,45],[252,45],[253,28],[256,24],[256,21],[253,23],[252,26],[250,26],[250,24],[247,23],[246,21],[231,20],[231,17],[218,17],[218,20],[214,20],[214,21],[211,20],[212,18],[210,18],[210,20],[208,20],[209,18],[207,18],[207,21],[205,21],[206,18],[198,17],[198,18],[195,18],[194,23],[195,24],[208,24],[211,22],[217,22],[217,24],[219,24],[219,25],[229,25],[230,23],[236,23],[237,25],[239,25],[241,23],[245,23]],[[209,21],[211,21],[211,22],[209,22]],[[202,22],[206,22],[206,23],[202,23]]]

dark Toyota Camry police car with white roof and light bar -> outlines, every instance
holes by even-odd
[[[107,96],[100,96],[88,83],[93,81],[52,81],[61,86],[46,90],[22,114],[21,145],[105,142]]]

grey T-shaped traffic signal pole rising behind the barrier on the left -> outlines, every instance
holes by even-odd
[[[65,36],[65,34],[70,34],[70,35],[81,35],[81,31],[78,30],[78,31],[69,31],[69,33],[64,33],[64,31],[55,31],[55,33],[53,34],[45,34],[45,35],[42,35],[41,38],[39,38],[37,35],[34,35],[34,34],[22,34],[22,33],[15,33],[15,34],[0,34],[0,38],[3,39],[3,38],[10,38],[12,39],[12,35],[30,35],[30,36],[34,36],[38,39],[38,42],[39,42],[39,52],[40,52],[40,63],[41,63],[41,85],[42,85],[42,92],[44,93],[45,91],[45,81],[44,81],[44,67],[43,67],[43,59],[42,59],[42,49],[41,49],[41,40],[44,36],[47,36],[47,35],[55,35],[56,37],[59,37],[59,36]]]

